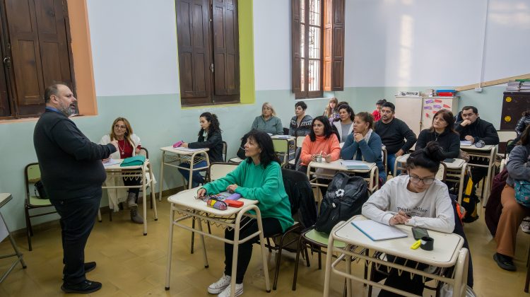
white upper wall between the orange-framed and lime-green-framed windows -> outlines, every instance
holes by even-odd
[[[89,0],[98,96],[179,93],[174,0]]]

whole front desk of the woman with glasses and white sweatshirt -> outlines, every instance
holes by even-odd
[[[399,291],[397,289],[384,286],[375,281],[361,278],[351,274],[351,257],[360,258],[365,261],[365,264],[370,265],[375,263],[376,265],[385,265],[391,267],[391,269],[399,269],[400,271],[411,272],[418,274],[423,277],[430,279],[437,279],[444,281],[445,283],[451,284],[455,292],[455,296],[466,296],[466,283],[467,283],[467,269],[468,269],[468,250],[462,248],[464,245],[464,238],[454,233],[442,233],[437,231],[429,230],[430,237],[435,239],[434,250],[411,250],[411,245],[416,241],[412,236],[410,226],[397,225],[402,231],[408,234],[406,238],[396,238],[391,240],[380,240],[373,241],[368,238],[365,234],[359,231],[351,224],[353,220],[365,220],[364,216],[354,216],[346,222],[338,223],[337,226],[331,231],[328,241],[328,255],[331,252],[338,252],[341,257],[338,260],[331,262],[331,257],[326,257],[326,272],[324,276],[324,296],[329,296],[329,283],[331,279],[331,272],[344,276],[350,281],[347,281],[348,296],[351,296],[351,280],[360,281],[363,284],[382,288],[387,291],[399,293],[404,296],[416,296],[411,293]],[[334,246],[335,240],[346,243],[348,246],[346,249],[336,248]],[[388,255],[394,255],[396,257],[402,257],[407,260],[413,260],[416,262],[425,263],[432,265],[433,267],[454,267],[454,274],[452,277],[446,277],[439,274],[432,274],[425,272],[422,269],[415,269],[413,267],[406,267],[404,265],[396,264],[394,262],[388,262],[379,260],[378,258],[365,254],[365,249],[369,249],[377,252],[384,252]],[[346,272],[342,272],[338,269],[338,263],[341,262],[343,257],[346,257]],[[458,293],[457,293],[458,292]]]

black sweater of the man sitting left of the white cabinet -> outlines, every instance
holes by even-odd
[[[388,124],[379,120],[375,122],[374,128],[375,133],[381,137],[381,141],[386,146],[387,153],[397,153],[400,149],[406,153],[416,144],[416,134],[402,120],[394,118]]]

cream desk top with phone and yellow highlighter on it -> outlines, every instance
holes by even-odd
[[[457,262],[459,250],[464,245],[464,238],[458,234],[428,230],[429,236],[435,240],[434,250],[428,251],[421,248],[412,250],[411,245],[416,240],[412,235],[411,226],[396,225],[397,228],[407,233],[408,236],[406,238],[374,241],[358,228],[355,228],[351,223],[353,220],[366,220],[366,218],[359,215],[348,220],[342,227],[332,233],[336,240],[437,267],[453,266]]]

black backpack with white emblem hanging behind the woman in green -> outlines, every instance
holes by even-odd
[[[368,187],[363,177],[336,173],[320,204],[315,229],[330,233],[339,221],[346,221],[360,214],[368,197]]]

